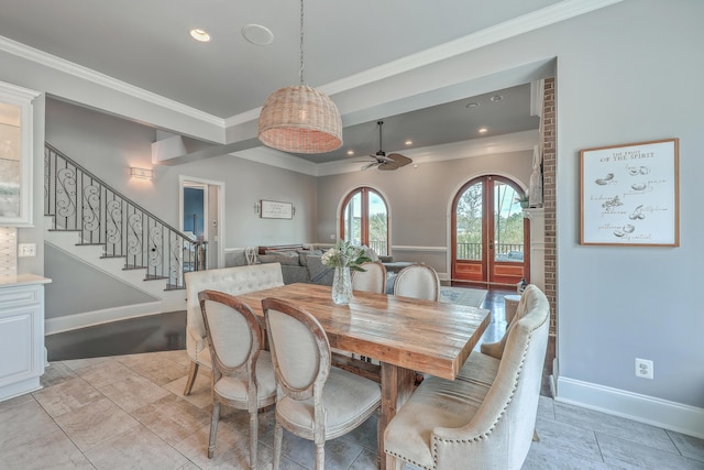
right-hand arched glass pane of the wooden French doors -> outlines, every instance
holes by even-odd
[[[494,181],[494,260],[524,261],[524,216],[518,193]]]

